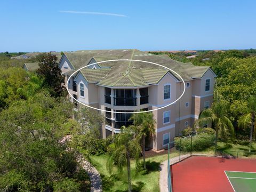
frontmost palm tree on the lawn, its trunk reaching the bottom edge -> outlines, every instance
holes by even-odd
[[[109,173],[112,171],[113,165],[117,165],[119,172],[123,171],[123,166],[127,165],[127,175],[128,175],[128,191],[132,191],[131,185],[131,158],[135,158],[135,165],[138,166],[140,157],[140,139],[131,126],[121,127],[121,133],[115,135],[114,144],[115,148],[110,154],[107,162],[107,168]],[[138,170],[138,169],[136,169]]]

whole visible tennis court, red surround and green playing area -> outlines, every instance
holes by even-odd
[[[173,192],[256,191],[256,159],[192,156],[170,167]]]

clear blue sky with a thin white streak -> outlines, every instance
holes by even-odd
[[[0,52],[256,48],[255,0],[0,0],[0,18]]]

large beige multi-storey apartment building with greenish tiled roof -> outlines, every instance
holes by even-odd
[[[176,71],[185,81],[186,91],[179,101],[153,111],[156,138],[149,147],[155,150],[165,148],[183,129],[192,126],[204,108],[211,106],[216,75],[210,67],[194,66],[139,50],[64,53],[59,67],[66,76],[69,92],[86,105],[109,111],[102,112],[106,118],[101,131],[103,138],[119,133],[122,125],[132,124],[129,121],[131,114],[116,114],[114,111],[157,109],[175,101],[184,89],[179,76],[166,68],[134,61],[95,64],[78,71],[67,82],[68,77],[83,66],[114,59],[155,62]]]

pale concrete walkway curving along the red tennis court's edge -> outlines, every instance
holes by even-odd
[[[195,155],[204,155],[205,156],[205,154],[193,154],[192,156],[195,156]],[[181,155],[180,157],[177,156],[177,157],[170,158],[170,165],[177,163],[180,161],[180,159],[182,160],[187,157],[190,157],[190,153],[188,153],[186,155]],[[168,172],[167,164],[168,164],[168,160],[162,162],[160,165],[159,187],[160,187],[161,192],[169,192],[168,191],[168,183],[167,183],[167,175],[168,175],[167,174],[167,172]]]

